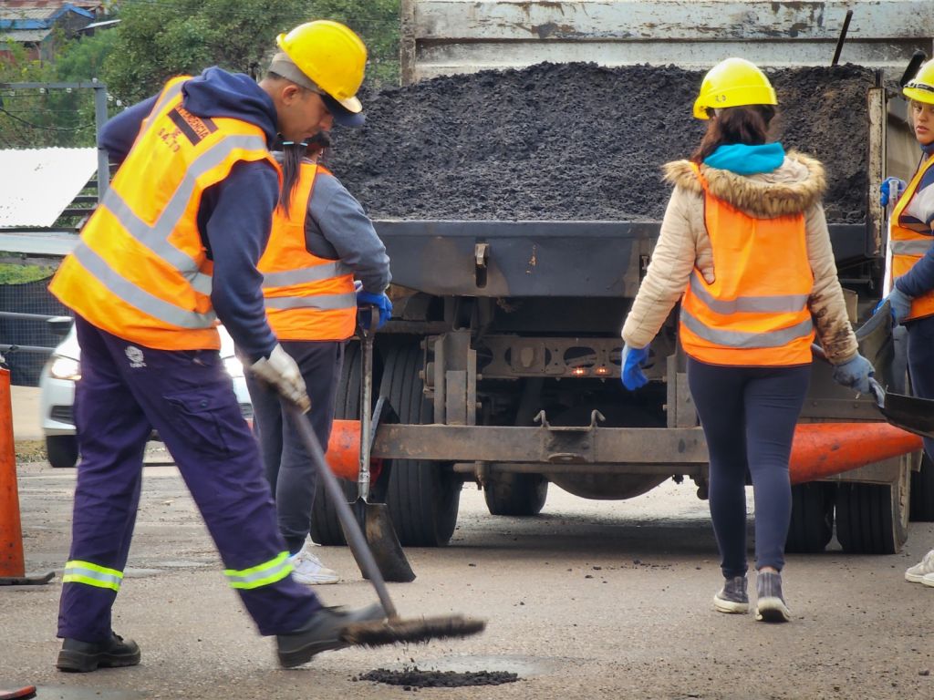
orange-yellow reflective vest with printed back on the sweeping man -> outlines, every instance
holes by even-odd
[[[166,84],[50,285],[94,326],[160,350],[220,347],[197,221],[205,189],[240,161],[269,161],[279,173],[259,126],[182,106],[188,79]]]

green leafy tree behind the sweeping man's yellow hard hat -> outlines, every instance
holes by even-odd
[[[107,87],[133,103],[169,77],[210,65],[260,78],[276,35],[312,19],[344,21],[358,31],[370,49],[371,82],[398,80],[398,0],[136,0],[120,6]]]

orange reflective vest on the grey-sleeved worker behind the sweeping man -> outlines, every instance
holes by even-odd
[[[303,161],[288,213],[273,215],[273,231],[257,268],[262,273],[266,316],[276,338],[284,341],[344,341],[357,325],[353,272],[341,260],[318,258],[305,245],[308,202],[318,172]]]

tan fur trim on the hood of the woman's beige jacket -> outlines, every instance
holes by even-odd
[[[662,168],[665,180],[675,187],[700,194],[701,181],[689,161],[672,161]],[[827,189],[820,161],[789,151],[785,161],[771,173],[736,175],[701,165],[710,193],[754,217],[800,214],[820,203]]]

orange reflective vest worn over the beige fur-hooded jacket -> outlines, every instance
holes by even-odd
[[[814,273],[804,215],[754,218],[707,189],[704,224],[716,279],[697,268],[681,302],[679,335],[690,357],[714,365],[806,365],[814,326],[808,297]]]

